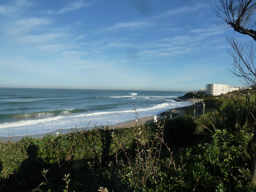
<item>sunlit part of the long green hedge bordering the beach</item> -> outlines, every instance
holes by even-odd
[[[144,128],[147,135],[146,142],[148,142],[154,136],[154,130],[149,126],[144,126]],[[74,131],[57,137],[49,134],[42,140],[26,137],[18,142],[1,141],[0,162],[2,170],[0,182],[5,180],[6,184],[15,182],[17,185],[22,185],[24,179],[20,180],[20,173],[23,172],[24,165],[30,167],[28,160],[31,161],[31,154],[36,156],[34,158],[44,160],[44,163],[40,164],[44,164],[45,168],[51,168],[54,171],[58,171],[56,168],[65,167],[65,164],[70,165],[70,163],[77,171],[88,167],[88,162],[95,162],[98,158],[105,162],[110,161],[116,152],[122,153],[121,147],[125,150],[134,149],[134,140],[137,139],[136,132],[136,127],[113,130],[116,138],[116,140],[113,140],[112,133],[109,130],[95,128]],[[33,151],[35,149],[36,152]],[[8,178],[10,175],[12,176]],[[40,176],[40,172],[38,175]],[[23,177],[27,176],[23,175]],[[56,175],[54,177],[59,178]],[[40,180],[37,182],[39,183]]]

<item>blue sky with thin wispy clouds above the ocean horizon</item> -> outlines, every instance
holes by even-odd
[[[1,0],[0,87],[243,86],[207,0]]]

